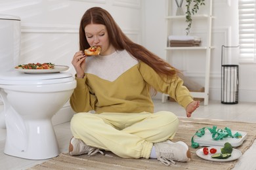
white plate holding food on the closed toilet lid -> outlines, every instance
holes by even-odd
[[[66,65],[54,65],[53,69],[15,69],[16,71],[27,74],[46,74],[46,73],[59,73],[60,71],[66,71],[70,67]]]

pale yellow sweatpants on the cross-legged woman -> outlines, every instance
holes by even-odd
[[[173,139],[179,120],[172,112],[154,114],[104,112],[77,113],[70,127],[75,138],[85,144],[110,150],[121,158],[146,158],[153,143]]]

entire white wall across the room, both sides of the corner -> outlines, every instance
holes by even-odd
[[[221,99],[221,45],[238,44],[237,2],[213,1],[216,19],[213,22],[215,49],[211,57],[210,99]],[[69,72],[74,73],[70,62],[78,50],[79,21],[85,10],[95,6],[108,10],[133,41],[165,59],[165,0],[1,0],[0,13],[20,16],[22,20],[20,63],[53,62],[69,65]],[[230,54],[229,61],[236,63],[238,54]],[[177,67],[186,67],[186,64]],[[189,64],[196,65],[197,62]],[[197,67],[186,75],[202,83],[204,71]],[[240,101],[256,101],[255,64],[240,63],[239,92]],[[67,103],[54,116],[53,122],[58,124],[58,120],[63,122],[70,116],[72,111]]]

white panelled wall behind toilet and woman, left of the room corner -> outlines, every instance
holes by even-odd
[[[85,10],[96,6],[108,10],[128,37],[141,42],[140,0],[1,0],[0,13],[21,18],[20,63],[68,65],[68,72],[75,73],[71,60],[79,50],[79,22]],[[53,124],[66,122],[72,115],[66,103]]]

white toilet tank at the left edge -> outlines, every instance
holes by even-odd
[[[0,14],[0,73],[11,71],[20,57],[20,18]]]

